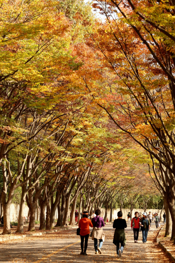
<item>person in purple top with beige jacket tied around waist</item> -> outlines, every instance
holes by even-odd
[[[94,227],[94,230],[92,232],[92,240],[94,240],[94,248],[95,248],[95,254],[101,254],[101,247],[104,242],[104,231],[103,231],[103,226],[104,220],[102,217],[100,217],[101,211],[97,209],[95,211],[96,217],[92,218],[92,224]],[[99,239],[99,247],[98,247],[98,239]]]

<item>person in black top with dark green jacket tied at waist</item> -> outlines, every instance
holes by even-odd
[[[113,228],[115,228],[113,244],[116,245],[117,256],[121,257],[123,248],[126,245],[125,228],[127,228],[126,220],[122,219],[122,211],[117,213],[118,219],[113,222]]]

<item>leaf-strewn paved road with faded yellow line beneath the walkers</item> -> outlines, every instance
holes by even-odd
[[[105,242],[102,254],[95,255],[93,241],[88,242],[88,256],[80,255],[80,237],[76,236],[76,230],[65,230],[41,237],[29,237],[23,240],[4,241],[0,243],[1,263],[54,263],[54,262],[86,262],[86,263],[112,263],[112,262],[171,262],[169,257],[153,243],[156,236],[155,223],[148,233],[148,242],[142,243],[142,235],[139,234],[139,243],[134,243],[133,231],[128,226],[126,229],[127,245],[121,258],[116,257],[116,246],[112,243],[114,229],[111,225],[104,227]]]

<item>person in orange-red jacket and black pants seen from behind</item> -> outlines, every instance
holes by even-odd
[[[78,227],[80,228],[80,238],[81,238],[81,253],[80,255],[86,255],[86,250],[88,247],[88,239],[90,234],[89,226],[93,227],[92,222],[88,219],[88,211],[83,212],[83,218],[80,219],[78,223]],[[84,239],[85,239],[85,247],[84,247]],[[84,249],[84,251],[83,251]]]

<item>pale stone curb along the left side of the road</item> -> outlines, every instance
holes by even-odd
[[[64,227],[64,228],[61,228],[61,229],[55,229],[55,230],[50,230],[50,231],[42,231],[42,232],[38,232],[38,233],[26,234],[26,235],[21,235],[21,236],[9,236],[9,237],[6,237],[6,238],[0,238],[0,241],[21,239],[21,238],[26,238],[26,237],[31,237],[31,236],[42,236],[42,235],[45,235],[45,234],[51,234],[51,233],[59,232],[59,231],[62,231],[62,230],[69,230],[69,229],[75,229],[75,228],[77,228],[77,226]]]

